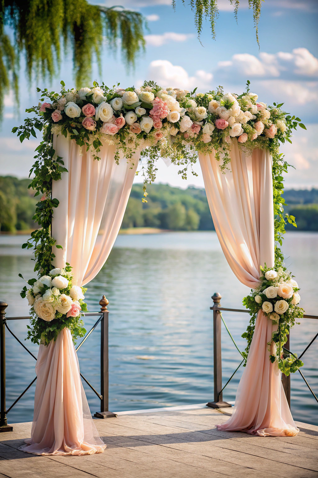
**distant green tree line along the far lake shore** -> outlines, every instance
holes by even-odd
[[[32,217],[39,197],[28,189],[29,179],[0,176],[0,230],[35,229]],[[122,228],[149,227],[170,230],[214,230],[205,190],[193,186],[187,189],[169,185],[147,186],[147,203],[143,203],[143,187],[133,185],[123,217]],[[286,210],[296,217],[297,229],[318,231],[318,189],[286,190]]]

